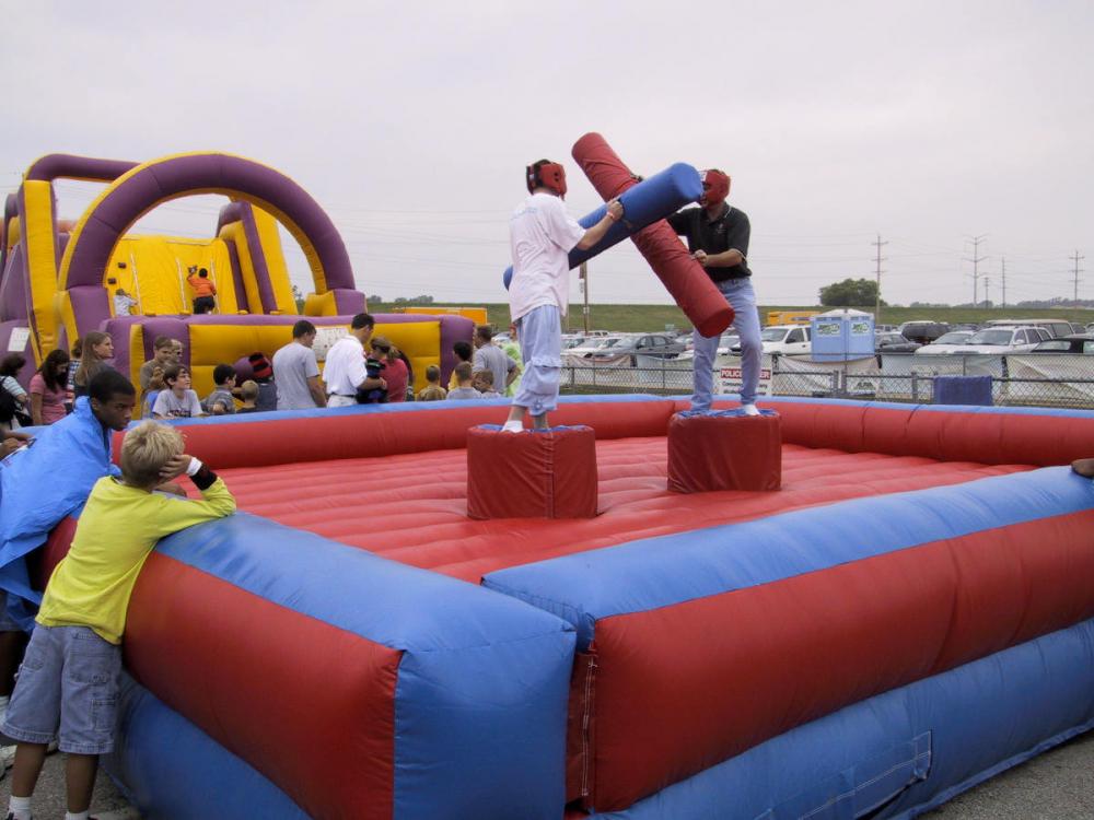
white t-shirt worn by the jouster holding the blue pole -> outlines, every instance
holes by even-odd
[[[531,194],[509,220],[513,279],[509,283],[512,320],[534,307],[556,305],[563,316],[570,303],[570,251],[585,229],[551,194]]]

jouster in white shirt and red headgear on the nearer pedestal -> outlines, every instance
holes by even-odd
[[[607,203],[604,218],[587,231],[567,212],[566,171],[549,160],[526,168],[528,197],[509,220],[513,279],[509,308],[521,337],[524,377],[513,397],[503,430],[520,432],[524,415],[546,429],[547,413],[558,406],[562,371],[561,317],[570,297],[570,259],[573,248],[587,250],[612,223],[622,216],[618,199]]]

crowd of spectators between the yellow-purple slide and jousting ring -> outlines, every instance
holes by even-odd
[[[492,399],[512,395],[519,384],[522,366],[513,328],[507,347],[497,343],[491,327],[476,328],[474,343],[461,340],[452,347],[457,365],[447,388],[441,384],[439,364],[429,364],[423,374],[427,386],[416,394],[409,360],[389,339],[374,336],[374,327],[370,315],[354,316],[349,333],[327,352],[321,374],[314,350],[318,331],[301,319],[293,326],[292,341],[272,359],[256,351],[235,364],[216,365],[213,389],[203,397],[194,390],[193,374],[183,363],[183,343],[156,337],[152,358],[138,372],[140,415],[186,419],[354,403]],[[26,370],[26,358],[8,354],[0,360],[0,430],[57,423],[72,412],[75,398],[88,394],[95,375],[112,368],[113,358],[109,335],[88,332],[73,342],[71,353],[51,351],[24,389],[20,374]]]

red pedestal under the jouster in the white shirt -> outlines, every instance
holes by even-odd
[[[472,518],[592,518],[596,435],[592,427],[503,433],[467,431],[467,515]]]

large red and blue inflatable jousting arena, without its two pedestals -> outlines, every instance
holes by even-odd
[[[241,512],[141,573],[112,772],[150,817],[910,818],[1094,725],[1094,413],[764,407],[781,489],[678,494],[683,401],[565,401],[561,520],[466,515],[504,401],[181,423]]]

